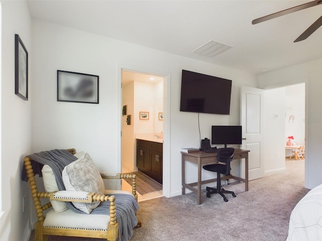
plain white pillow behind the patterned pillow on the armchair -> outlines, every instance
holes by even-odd
[[[84,156],[85,152],[77,152],[74,156],[80,158]],[[48,165],[44,165],[41,169],[42,178],[44,182],[44,187],[46,192],[54,192],[58,191],[58,186],[55,179],[55,174],[52,171],[51,167]],[[55,212],[63,212],[68,209],[65,202],[62,201],[53,201],[50,200],[50,203],[55,210]]]

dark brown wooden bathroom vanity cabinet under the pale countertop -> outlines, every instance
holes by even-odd
[[[163,144],[137,139],[136,166],[139,171],[162,184]]]

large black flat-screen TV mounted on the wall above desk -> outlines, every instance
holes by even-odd
[[[180,111],[229,114],[231,80],[182,70]]]

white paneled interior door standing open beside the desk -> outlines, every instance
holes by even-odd
[[[243,144],[241,149],[250,150],[249,180],[264,176],[263,153],[263,91],[262,89],[242,86],[240,90],[240,125],[242,126]],[[245,160],[242,160],[245,162]],[[245,165],[241,165],[241,175]]]

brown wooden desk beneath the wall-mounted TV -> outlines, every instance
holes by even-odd
[[[248,153],[249,150],[235,149],[233,159],[243,159],[245,158],[245,179],[228,175],[221,177],[221,180],[225,180],[228,178],[232,178],[238,180],[240,182],[245,182],[245,191],[248,191]],[[182,158],[182,195],[186,194],[186,188],[197,193],[198,195],[198,204],[201,204],[201,185],[211,182],[216,182],[217,178],[209,179],[209,180],[201,180],[201,170],[202,166],[205,164],[211,164],[217,162],[217,154],[218,153],[205,153],[205,152],[192,152],[192,153],[184,153],[181,152]],[[185,177],[185,162],[193,162],[198,164],[198,181],[194,183],[186,183]],[[197,188],[195,188],[197,186]]]

